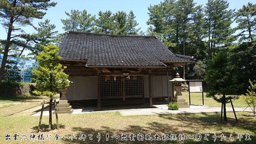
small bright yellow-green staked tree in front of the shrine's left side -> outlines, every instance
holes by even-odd
[[[43,47],[43,52],[38,53],[36,60],[38,67],[32,70],[32,73],[37,76],[36,90],[33,93],[50,98],[49,106],[49,128],[52,129],[52,100],[56,95],[56,90],[59,88],[67,88],[68,75],[63,72],[65,66],[56,63],[61,57],[58,56],[59,48],[49,44]]]

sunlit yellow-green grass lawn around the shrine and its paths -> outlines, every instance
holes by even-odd
[[[186,92],[183,92],[186,95]],[[196,94],[196,93],[194,93]],[[22,97],[22,96],[21,96]],[[196,96],[195,96],[196,97]],[[24,99],[26,96],[24,96]],[[255,144],[256,143],[256,118],[252,117],[250,112],[237,113],[238,124],[235,123],[234,114],[232,112],[227,113],[228,122],[220,123],[220,113],[203,113],[203,114],[175,114],[175,115],[154,115],[154,116],[121,116],[119,112],[115,113],[89,113],[89,114],[68,114],[58,115],[60,129],[56,130],[56,119],[52,116],[52,122],[54,124],[54,130],[48,130],[48,118],[49,116],[43,116],[41,130],[37,133],[37,126],[39,122],[39,116],[29,116],[34,113],[35,110],[41,108],[41,106],[25,110],[14,114],[12,116],[4,117],[8,114],[17,112],[18,110],[40,104],[43,99],[39,97],[32,97],[28,101],[24,101],[23,98],[18,105],[11,105],[8,107],[0,107],[0,144],[9,143],[32,143],[29,140],[30,134],[35,134],[34,143],[44,144],[194,144],[194,143],[226,143],[226,144]],[[198,104],[200,104],[200,95],[197,96]],[[208,99],[208,100],[207,100]],[[191,99],[193,100],[193,99]],[[11,101],[17,102],[17,101]],[[193,102],[193,101],[192,101]],[[214,103],[214,100],[206,98],[206,105]],[[235,102],[234,102],[235,105]],[[212,104],[211,106],[214,106]],[[219,106],[216,104],[216,106]],[[5,140],[6,134],[9,134],[11,140]],[[14,134],[20,135],[18,141],[14,141]],[[43,134],[45,140],[38,141],[38,134]],[[51,140],[46,140],[46,136],[52,135]],[[60,140],[55,140],[54,137],[58,134],[64,136]],[[85,141],[79,140],[80,134],[85,134]],[[92,134],[92,140],[89,139],[89,134]],[[101,139],[98,142],[98,134]],[[109,140],[106,141],[106,134],[109,134]],[[122,141],[121,138],[116,139],[112,136],[127,135],[127,141]],[[129,135],[135,134],[135,141],[130,141]],[[144,140],[138,141],[137,134],[144,134]],[[145,140],[145,135],[150,134],[152,138],[154,136],[160,136],[160,141]],[[177,140],[166,141],[162,140],[163,134],[177,134]],[[185,136],[196,136],[200,134],[202,136],[200,141],[196,141],[195,138],[185,138],[185,140],[179,140],[179,134]],[[209,141],[204,140],[205,134],[209,134],[207,137]],[[216,134],[216,142],[214,142],[214,136]],[[226,140],[221,141],[221,135],[226,136]],[[229,140],[229,136],[232,134],[234,141]],[[238,140],[238,134],[242,134],[241,141]],[[246,134],[250,135],[251,140],[245,141]],[[22,140],[22,136],[28,136],[27,140]],[[68,139],[67,135],[70,137]],[[71,140],[71,136],[76,135],[77,139]],[[198,135],[199,136],[199,135]]]

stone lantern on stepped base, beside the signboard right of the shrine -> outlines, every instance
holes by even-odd
[[[182,82],[186,82],[187,80],[184,80],[183,78],[180,78],[180,74],[176,74],[176,78],[169,80],[170,82],[174,82],[174,88],[176,89],[176,94],[174,98],[172,99],[172,103],[178,103],[180,108],[190,108],[188,105],[188,102],[186,102],[186,99],[184,96],[182,96],[181,89],[183,88],[181,86]]]

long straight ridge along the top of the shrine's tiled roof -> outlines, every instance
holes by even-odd
[[[74,33],[74,34],[88,34],[88,35],[96,35],[96,36],[112,36],[112,37],[130,37],[130,38],[157,38],[156,36],[129,36],[129,35],[117,35],[117,34],[99,34],[99,33],[91,33],[91,32],[75,32],[75,31],[69,31],[66,32]]]

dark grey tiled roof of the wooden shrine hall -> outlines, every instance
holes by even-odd
[[[163,62],[189,62],[174,55],[155,36],[123,36],[72,32],[60,45],[62,60],[86,60],[87,66],[166,66]]]

